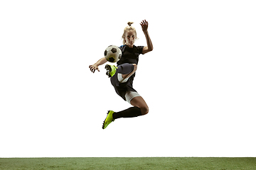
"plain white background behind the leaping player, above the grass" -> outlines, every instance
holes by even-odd
[[[255,1],[1,1],[0,157],[256,157]],[[149,21],[134,89],[149,114],[102,130],[104,66]]]

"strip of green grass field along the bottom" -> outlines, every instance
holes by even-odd
[[[256,169],[256,158],[1,158],[0,169]]]

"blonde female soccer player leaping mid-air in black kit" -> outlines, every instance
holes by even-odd
[[[153,50],[153,45],[147,30],[149,26],[148,22],[144,20],[140,25],[142,26],[142,31],[146,37],[147,46],[137,47],[134,45],[134,42],[137,39],[137,33],[135,28],[132,27],[132,22],[129,22],[128,26],[124,28],[124,34],[122,35],[124,45],[119,47],[122,50],[122,57],[117,62],[117,67],[109,64],[105,66],[107,75],[110,77],[111,84],[114,86],[117,94],[134,107],[119,112],[108,111],[107,118],[102,125],[103,129],[107,128],[107,125],[110,125],[110,123],[117,118],[133,118],[149,113],[149,107],[146,105],[146,102],[132,87],[137,64],[139,62],[139,55],[144,55],[146,52]],[[90,65],[89,68],[93,73],[96,69],[100,72],[98,67],[105,64],[105,62],[107,62],[107,60],[105,57],[102,57],[95,64]]]

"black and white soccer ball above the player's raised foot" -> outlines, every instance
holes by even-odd
[[[115,45],[110,45],[104,52],[105,58],[109,62],[118,62],[122,57],[122,51]]]

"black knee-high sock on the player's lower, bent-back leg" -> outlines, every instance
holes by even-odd
[[[133,118],[139,115],[142,115],[142,111],[140,110],[140,108],[134,106],[132,108],[127,108],[124,111],[113,113],[113,119],[115,120],[117,118]]]

